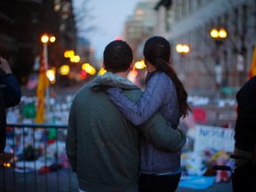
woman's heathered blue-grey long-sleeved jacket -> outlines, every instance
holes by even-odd
[[[120,88],[107,90],[109,99],[133,124],[144,124],[156,111],[177,128],[180,112],[177,94],[172,79],[164,72],[148,73],[146,90],[138,103],[129,100]],[[180,151],[165,152],[156,149],[146,140],[141,142],[140,172],[145,174],[176,173],[181,171]]]

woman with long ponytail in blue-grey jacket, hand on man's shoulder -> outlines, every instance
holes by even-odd
[[[164,37],[153,36],[144,45],[143,54],[148,75],[140,101],[132,102],[116,87],[106,89],[108,97],[133,124],[144,124],[160,111],[177,128],[180,117],[191,109],[188,93],[170,65],[171,46]],[[175,191],[181,176],[181,152],[163,151],[142,139],[140,153],[140,191]]]

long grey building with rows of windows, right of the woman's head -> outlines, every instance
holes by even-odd
[[[222,92],[248,79],[256,43],[254,0],[172,0],[172,63],[188,90]],[[228,36],[212,38],[212,28]],[[188,53],[176,52],[188,44]]]

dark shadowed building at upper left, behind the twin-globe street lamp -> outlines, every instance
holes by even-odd
[[[76,22],[71,0],[2,0],[0,4],[0,55],[9,61],[20,84],[39,68],[44,33],[56,36],[49,44],[49,67],[63,62],[63,52],[76,49]]]

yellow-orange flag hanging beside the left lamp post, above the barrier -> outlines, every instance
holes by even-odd
[[[44,57],[43,57],[44,58]],[[45,87],[49,85],[48,79],[46,77],[45,68],[44,68],[44,59],[41,62],[38,84],[36,88],[37,96],[37,107],[36,107],[36,123],[44,123],[44,90]]]

